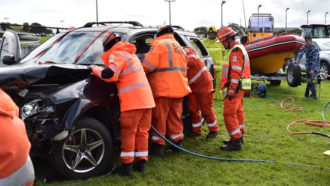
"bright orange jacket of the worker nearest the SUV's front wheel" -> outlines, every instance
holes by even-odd
[[[135,51],[133,44],[123,41],[116,43],[101,56],[106,66],[114,72],[113,77],[103,79],[103,69],[97,73],[107,82],[115,81],[121,111],[155,107],[150,85]]]

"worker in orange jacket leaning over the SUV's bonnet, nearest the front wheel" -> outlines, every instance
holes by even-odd
[[[151,108],[155,107],[152,92],[141,61],[135,55],[135,45],[121,41],[121,37],[108,32],[103,38],[106,69],[92,67],[93,74],[107,82],[115,81],[120,100],[120,140],[122,165],[114,173],[131,175],[133,168],[143,172],[148,161],[148,131]],[[134,158],[137,162],[132,167]]]

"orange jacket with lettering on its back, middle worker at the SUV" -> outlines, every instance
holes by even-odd
[[[142,66],[154,98],[181,98],[191,92],[187,79],[187,56],[172,34],[151,42]]]

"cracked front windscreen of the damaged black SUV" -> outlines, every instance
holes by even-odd
[[[73,64],[76,57],[93,41],[100,32],[70,32],[64,36],[57,43],[52,45],[57,38],[52,39],[52,41],[47,41],[45,45],[40,45],[37,47],[33,54],[32,52],[24,57],[21,63],[60,63],[60,64]],[[120,33],[116,33],[122,35]],[[103,33],[98,37],[93,44],[91,44],[88,49],[82,54],[78,60],[78,64],[103,64],[100,56],[103,54],[102,38],[105,35]],[[55,37],[55,36],[54,36]],[[101,42],[101,44],[100,44]],[[46,42],[45,42],[46,43]],[[50,47],[49,47],[50,46]],[[49,47],[49,48],[48,48]],[[43,52],[43,50],[45,50]],[[43,52],[43,53],[42,53]],[[89,55],[91,54],[92,57]],[[38,55],[39,53],[42,53]],[[85,61],[85,62],[84,62]],[[87,62],[86,62],[87,61]]]

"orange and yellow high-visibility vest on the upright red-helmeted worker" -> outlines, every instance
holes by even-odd
[[[243,56],[244,56],[244,64],[243,64],[243,68],[242,68],[242,77],[240,78],[240,82],[241,82],[241,87],[240,88],[244,89],[244,90],[251,89],[251,75],[250,75],[249,55],[246,52],[244,46],[242,44],[239,44],[239,45],[235,45],[233,48],[231,48],[223,58],[222,73],[221,73],[221,89],[222,89],[222,95],[223,96],[227,96],[228,87],[226,86],[226,83],[227,83],[228,79],[230,78],[229,75],[228,75],[229,68],[230,68],[229,56],[235,48],[240,48],[242,50]]]

